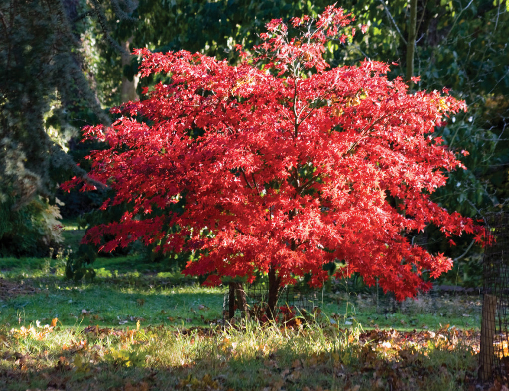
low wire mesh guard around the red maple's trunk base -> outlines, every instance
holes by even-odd
[[[247,319],[264,319],[269,296],[267,284],[254,281],[252,284],[230,283],[227,287],[223,296],[223,320],[230,320],[237,315]],[[301,314],[314,314],[319,307],[320,291],[305,282],[281,286],[273,318],[285,322]],[[268,318],[270,316],[265,319]]]

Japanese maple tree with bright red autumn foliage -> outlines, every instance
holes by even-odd
[[[400,299],[429,288],[422,273],[438,277],[451,260],[408,233],[433,223],[447,236],[483,234],[430,199],[447,171],[464,168],[434,129],[465,104],[445,90],[410,93],[380,62],[330,68],[324,44],[344,42],[352,20],[333,7],[316,19],[273,20],[252,54],[238,48],[236,66],[135,50],[142,76],[167,81],[117,108],[110,128],[85,129],[109,144],[89,156],[90,177],[116,191],[103,208],[128,205],[87,240],[106,252],[134,240],[199,250],[184,273],[210,285],[267,273],[272,295],[306,274],[321,285],[334,260]]]

